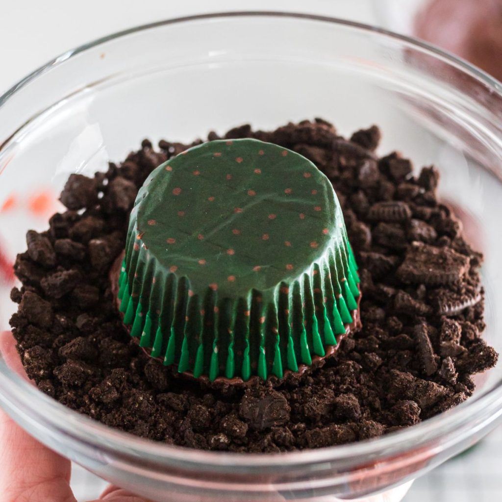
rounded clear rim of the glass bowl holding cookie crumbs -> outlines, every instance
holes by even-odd
[[[292,20],[323,22],[338,27],[378,34],[384,38],[390,38],[409,44],[415,48],[420,48],[428,54],[442,59],[452,66],[460,68],[463,72],[487,86],[491,92],[495,92],[502,97],[502,83],[486,72],[447,51],[414,37],[400,35],[364,23],[329,16],[281,11],[239,11],[198,14],[167,19],[122,30],[80,45],[51,59],[48,63],[40,66],[14,84],[0,96],[0,109],[13,95],[45,72],[64,64],[67,60],[81,52],[111,40],[159,27],[191,21],[245,17],[287,18]],[[2,146],[0,146],[0,150],[1,149]],[[220,468],[221,472],[230,466],[237,468],[270,468],[274,466],[278,469],[284,469],[302,465],[305,466],[306,464],[317,464],[319,462],[337,462],[355,457],[366,457],[368,460],[372,459],[373,461],[375,457],[384,455],[387,458],[395,458],[409,451],[410,445],[412,449],[418,451],[421,449],[421,446],[423,447],[425,444],[434,440],[437,441],[447,432],[460,429],[462,425],[467,425],[468,420],[471,419],[474,414],[482,416],[482,412],[485,412],[485,422],[502,419],[502,380],[500,380],[485,393],[469,398],[465,403],[456,406],[453,410],[442,413],[415,426],[408,427],[405,430],[382,437],[358,441],[347,445],[283,453],[213,452],[167,445],[139,438],[127,432],[122,432],[118,429],[101,424],[86,415],[81,415],[69,409],[49,396],[46,396],[36,387],[30,385],[19,375],[14,373],[1,359],[0,382],[4,384],[0,385],[0,402],[7,404],[9,408],[17,407],[16,403],[38,402],[40,407],[37,407],[35,412],[38,414],[40,420],[47,424],[51,423],[53,426],[57,424],[61,432],[77,441],[87,445],[99,444],[105,449],[110,449],[109,445],[112,444],[111,449],[122,455],[149,458],[150,460],[156,460],[161,463],[167,462],[171,464],[176,462],[178,465],[183,465],[185,467],[191,466],[192,468],[200,468],[201,466],[205,466],[206,468]]]

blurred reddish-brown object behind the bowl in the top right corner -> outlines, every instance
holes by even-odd
[[[502,80],[502,0],[432,0],[414,31]]]

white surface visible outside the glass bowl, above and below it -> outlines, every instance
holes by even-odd
[[[283,10],[363,23],[383,22],[381,0],[2,0],[0,94],[35,68],[80,44],[162,19],[232,10]],[[393,0],[405,8],[409,0]],[[468,453],[415,481],[405,502],[491,502],[502,499],[502,429]],[[98,496],[105,483],[75,466],[77,500]],[[34,501],[37,502],[37,501]]]

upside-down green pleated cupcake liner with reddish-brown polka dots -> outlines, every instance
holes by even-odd
[[[357,310],[357,266],[329,180],[258,140],[213,141],[155,169],[131,213],[123,322],[195,378],[283,378]]]

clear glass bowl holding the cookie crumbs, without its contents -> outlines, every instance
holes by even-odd
[[[145,137],[188,141],[243,122],[275,128],[315,116],[343,134],[378,123],[381,153],[399,149],[441,171],[442,196],[462,210],[486,255],[485,336],[501,350],[501,91],[437,49],[334,19],[234,13],[158,23],[69,51],[0,98],[0,207],[41,187],[55,198],[70,173],[105,170]],[[11,260],[28,227],[47,225],[23,208],[13,214],[0,212]],[[8,288],[1,328],[13,310]],[[501,420],[502,366],[481,375],[466,403],[402,432],[273,455],[194,451],[118,432],[38,392],[2,360],[0,402],[43,443],[153,500],[328,500],[403,483],[480,439]]]

